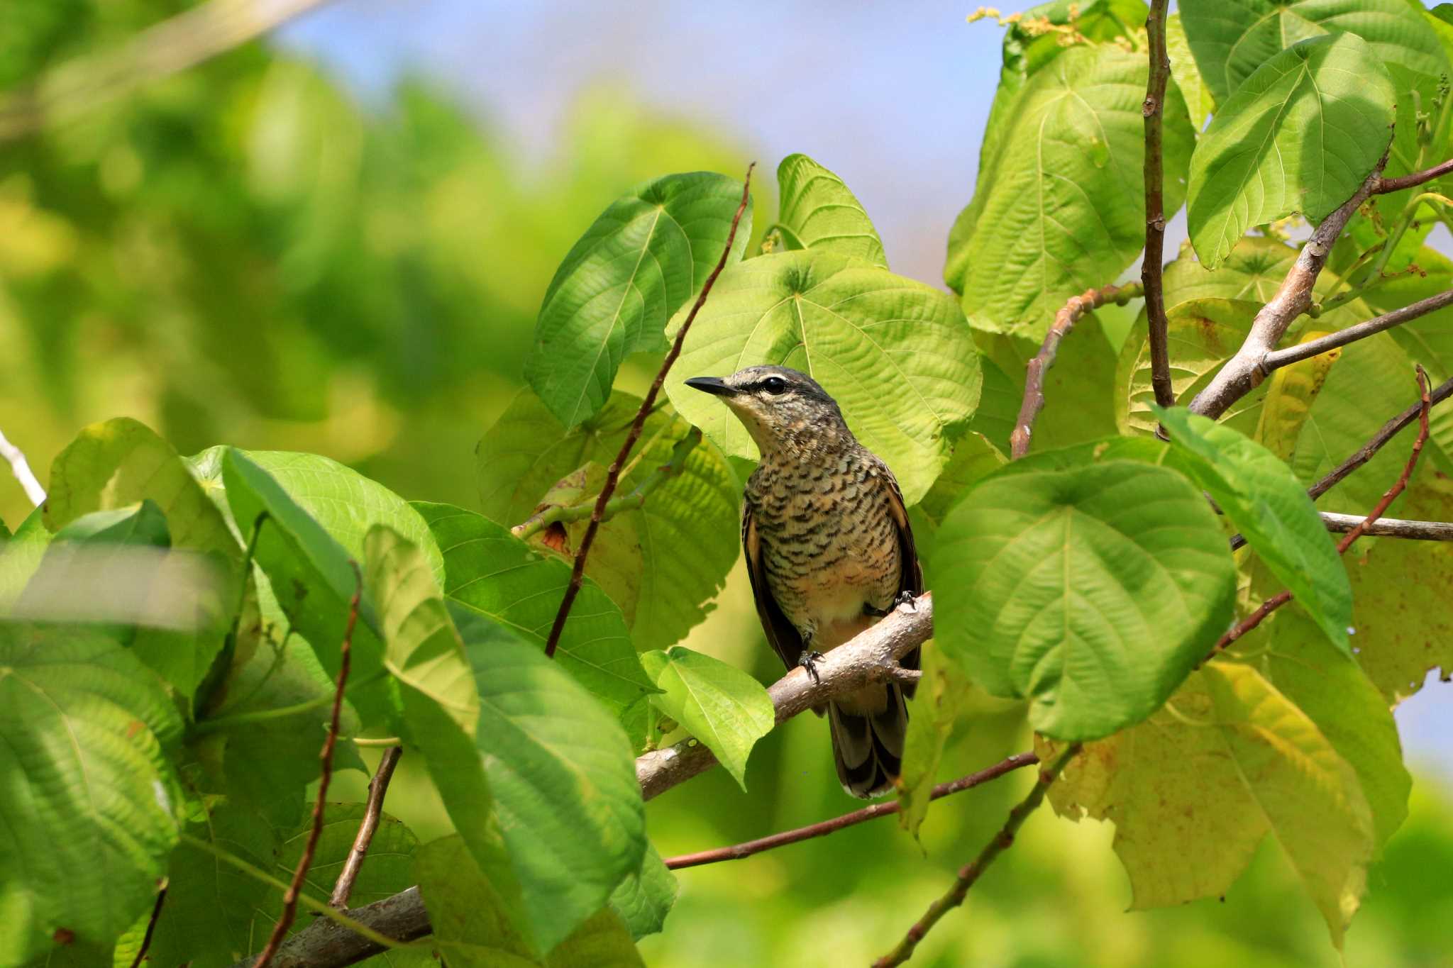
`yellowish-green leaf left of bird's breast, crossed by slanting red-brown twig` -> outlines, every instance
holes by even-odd
[[[641,401],[612,393],[590,419],[565,428],[529,390],[506,408],[477,448],[481,509],[506,524],[525,521],[558,482],[591,462],[604,467],[620,450]],[[671,463],[684,437],[684,419],[657,411],[647,418],[632,463],[618,495],[629,495]],[[587,482],[586,477],[590,477]],[[594,504],[599,475],[581,475],[591,486],[571,495]],[[602,525],[586,575],[620,607],[638,649],[665,647],[686,637],[712,610],[726,572],[741,550],[738,506],[741,485],[726,457],[700,443],[679,462],[679,470],[655,482],[645,502]],[[567,549],[580,547],[587,521],[565,525]],[[548,549],[541,536],[532,544]]]

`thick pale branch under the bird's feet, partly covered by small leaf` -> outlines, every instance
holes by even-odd
[[[902,605],[817,662],[819,684],[798,666],[769,689],[777,724],[833,697],[894,678],[898,659],[933,637],[933,594]],[[636,779],[647,800],[716,765],[716,756],[695,739],[636,758]]]

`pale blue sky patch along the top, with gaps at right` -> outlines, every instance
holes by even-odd
[[[445,81],[522,161],[551,152],[583,87],[623,83],[740,139],[766,171],[793,151],[812,155],[851,186],[895,271],[942,284],[998,83],[1001,32],[966,23],[972,10],[944,0],[336,0],[279,39],[365,97],[407,71]],[[1181,216],[1165,251],[1183,238]],[[1398,720],[1408,759],[1453,784],[1450,688],[1431,682]]]

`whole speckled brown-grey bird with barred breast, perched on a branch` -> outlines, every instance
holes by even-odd
[[[686,385],[722,398],[757,441],[761,462],[741,515],[757,615],[788,668],[805,666],[815,678],[812,663],[824,652],[923,592],[898,482],[805,373],[754,366]],[[918,650],[902,665],[917,669]],[[828,702],[837,778],[854,797],[886,792],[898,776],[904,692],[870,685]]]

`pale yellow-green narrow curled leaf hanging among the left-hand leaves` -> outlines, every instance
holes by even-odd
[[[386,524],[369,530],[363,549],[365,582],[384,628],[384,665],[472,736],[479,695],[427,559]]]

